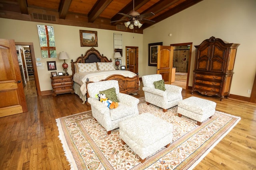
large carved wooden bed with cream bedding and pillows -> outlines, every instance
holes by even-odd
[[[128,70],[116,70],[112,59],[108,60],[93,47],[81,55],[76,61],[71,60],[73,88],[83,101],[86,102],[86,87],[90,82],[118,80],[119,90],[124,94],[139,94],[139,75]]]

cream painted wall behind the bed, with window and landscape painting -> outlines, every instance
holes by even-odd
[[[37,31],[37,25],[52,25],[54,27],[55,43],[57,58],[43,59],[40,52],[39,37]],[[104,29],[92,29],[86,27],[75,27],[68,25],[57,25],[47,23],[36,23],[30,21],[19,21],[0,18],[0,38],[1,39],[14,39],[15,42],[27,42],[33,43],[36,58],[40,58],[41,62],[45,64],[44,69],[38,69],[38,78],[40,83],[41,91],[52,90],[50,72],[47,69],[47,61],[56,61],[57,70],[56,72],[63,72],[62,60],[58,60],[58,55],[61,51],[66,51],[69,55],[68,73],[72,74],[71,71],[71,59],[76,60],[81,54],[85,54],[91,47],[80,47],[80,35],[79,30],[91,30],[97,31],[98,35],[98,47],[94,47],[101,54],[113,59],[114,55],[114,33],[121,33],[123,39],[123,54],[125,54],[125,46],[136,46],[139,47],[139,63],[142,63],[142,39],[143,35],[138,33],[126,33],[120,31],[111,31]],[[122,57],[122,65],[125,65],[125,55]],[[114,64],[114,62],[113,62]],[[140,66],[139,66],[140,71]]]

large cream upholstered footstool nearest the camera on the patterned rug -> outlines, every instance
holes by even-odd
[[[141,163],[162,147],[169,147],[172,129],[171,123],[150,113],[142,113],[119,123],[122,144],[127,144],[138,154]]]

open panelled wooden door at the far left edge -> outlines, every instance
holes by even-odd
[[[28,111],[14,40],[0,39],[0,117]]]

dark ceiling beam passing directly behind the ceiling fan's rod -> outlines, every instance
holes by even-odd
[[[134,11],[138,10],[140,7],[142,7],[144,4],[149,2],[150,0],[136,0],[134,1]],[[129,4],[127,4],[122,10],[119,11],[119,13],[128,14],[133,10],[133,1],[131,1]],[[120,14],[116,14],[111,18],[111,21],[117,21],[117,20],[124,20],[125,16],[122,16]],[[116,25],[116,23],[113,23],[113,25]]]

